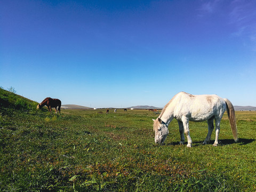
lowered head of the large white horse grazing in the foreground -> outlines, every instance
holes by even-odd
[[[161,145],[169,134],[168,126],[159,117],[152,120],[154,121],[155,143]]]

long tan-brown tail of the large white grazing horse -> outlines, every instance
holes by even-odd
[[[228,99],[224,99],[224,100],[225,100],[226,106],[227,106],[227,113],[228,113],[229,123],[231,126],[231,131],[233,133],[235,142],[237,142],[238,136],[237,136],[235,109],[234,109],[234,106],[232,105],[232,103]]]

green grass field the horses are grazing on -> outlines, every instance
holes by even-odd
[[[225,114],[218,147],[202,144],[206,122],[190,122],[187,148],[175,119],[156,146],[157,115],[147,110],[60,116],[2,89],[0,97],[0,191],[256,191],[255,111],[236,111],[238,143]]]

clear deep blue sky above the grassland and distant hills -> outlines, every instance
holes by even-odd
[[[0,1],[0,86],[41,102],[256,106],[256,1]]]

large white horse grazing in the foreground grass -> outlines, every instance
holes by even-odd
[[[154,121],[155,142],[162,144],[169,134],[168,125],[172,119],[178,120],[180,129],[180,144],[185,142],[184,133],[188,139],[187,147],[191,147],[192,140],[189,135],[188,122],[208,123],[208,134],[204,140],[204,144],[210,142],[211,134],[214,129],[213,120],[215,119],[215,141],[213,146],[218,145],[218,137],[220,132],[220,120],[227,110],[231,130],[235,142],[238,141],[235,110],[232,103],[228,99],[222,99],[218,95],[191,95],[189,93],[180,92],[165,105],[162,113]]]

